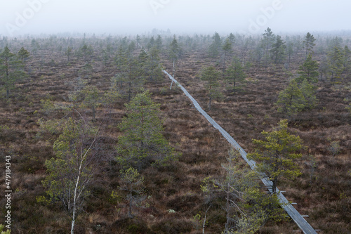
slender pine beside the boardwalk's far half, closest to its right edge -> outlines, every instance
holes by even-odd
[[[211,110],[211,101],[213,98],[218,98],[221,96],[219,91],[219,82],[218,79],[220,77],[220,73],[216,70],[215,67],[209,66],[205,67],[201,71],[200,78],[206,82],[205,89],[208,93],[208,110]]]

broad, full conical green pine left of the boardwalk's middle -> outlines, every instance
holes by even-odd
[[[176,159],[176,152],[161,134],[159,104],[152,101],[151,93],[139,93],[126,108],[127,117],[119,124],[124,136],[119,137],[117,161],[141,169]]]

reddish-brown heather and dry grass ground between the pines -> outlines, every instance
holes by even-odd
[[[58,103],[67,101],[72,86],[69,82],[79,76],[84,63],[74,61],[67,65],[65,57],[43,51],[44,58],[55,58],[55,66],[44,64],[41,71],[34,56],[29,66],[34,67],[29,79],[21,82],[10,100],[0,100],[0,125],[8,129],[0,131],[0,167],[4,168],[4,155],[13,156],[14,228],[18,233],[67,233],[69,218],[59,205],[49,207],[36,202],[35,197],[45,195],[41,180],[45,176],[45,160],[54,157],[51,144],[57,136],[38,138],[37,121],[50,119],[55,113],[42,112],[40,100],[50,99]],[[199,70],[213,61],[204,58],[202,51],[185,53],[180,60],[176,79],[197,99],[206,110],[207,98],[204,83],[198,78]],[[108,89],[109,80],[115,73],[114,66],[104,67],[94,58],[94,72],[87,78],[88,84]],[[296,70],[300,60],[295,58]],[[170,64],[164,60],[166,68]],[[63,75],[64,74],[64,75]],[[213,102],[208,112],[218,124],[228,131],[248,152],[253,149],[252,138],[260,138],[260,132],[269,131],[284,115],[277,114],[274,102],[277,93],[288,84],[282,67],[252,67],[248,83],[241,91],[230,93],[223,87],[224,98]],[[347,81],[345,81],[347,82]],[[147,200],[135,209],[137,219],[127,219],[126,202],[112,200],[112,190],[119,186],[119,165],[114,163],[114,146],[121,135],[117,124],[124,116],[125,99],[118,100],[112,110],[99,108],[97,119],[105,119],[101,145],[108,158],[102,163],[98,180],[91,186],[92,196],[86,201],[86,212],[81,213],[77,233],[201,233],[193,223],[193,216],[204,212],[204,197],[199,184],[206,176],[224,175],[221,164],[230,145],[206,119],[202,117],[179,90],[168,91],[169,80],[157,86],[147,84],[155,102],[161,104],[164,119],[164,136],[182,153],[178,162],[167,167],[150,167],[143,171]],[[307,214],[307,219],[320,233],[351,232],[351,117],[345,110],[343,98],[347,91],[333,91],[329,84],[319,83],[317,108],[301,112],[291,119],[291,131],[300,136],[308,147],[306,154],[317,159],[317,169],[310,183],[310,167],[299,162],[303,176],[294,181],[281,181],[279,188],[286,190],[286,197],[297,202],[297,209]],[[166,87],[166,88],[165,88]],[[167,91],[162,91],[165,88]],[[29,104],[31,103],[31,104]],[[36,114],[34,112],[37,111]],[[329,141],[340,141],[341,152],[331,157]],[[1,174],[4,185],[4,173]],[[1,188],[2,189],[2,188]],[[1,211],[4,199],[0,201]],[[176,213],[168,212],[173,209]],[[39,222],[38,222],[39,221]],[[208,213],[206,233],[220,233],[225,221],[220,207]],[[298,227],[292,222],[266,223],[259,233],[293,233]],[[297,232],[296,232],[297,233]]]

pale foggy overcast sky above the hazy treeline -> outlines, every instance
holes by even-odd
[[[0,34],[351,30],[350,0],[0,0]]]

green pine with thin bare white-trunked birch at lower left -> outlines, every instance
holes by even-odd
[[[47,189],[47,202],[61,202],[72,217],[72,230],[77,213],[89,195],[87,186],[91,183],[97,165],[95,160],[95,139],[98,129],[83,120],[71,117],[62,123],[62,134],[53,144],[56,157],[46,160],[48,176],[42,181]],[[38,197],[38,202],[45,201]]]

